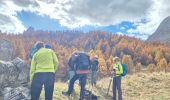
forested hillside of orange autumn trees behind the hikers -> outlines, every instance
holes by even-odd
[[[75,50],[86,51],[92,57],[99,56],[99,70],[105,74],[112,69],[113,57],[118,56],[128,66],[128,72],[170,71],[170,48],[162,43],[146,43],[137,38],[115,35],[102,31],[33,31],[23,34],[0,34],[0,39],[14,45],[12,59],[20,57],[29,62],[28,54],[36,41],[52,44],[59,58],[59,70],[66,75],[67,62]]]

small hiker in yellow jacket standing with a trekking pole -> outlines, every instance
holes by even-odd
[[[113,65],[113,100],[116,100],[116,90],[118,91],[118,100],[122,100],[121,76],[123,74],[123,67],[119,57],[114,58]]]

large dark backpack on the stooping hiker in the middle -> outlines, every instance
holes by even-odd
[[[79,53],[77,58],[77,70],[89,70],[89,67],[90,67],[89,56],[84,52]]]

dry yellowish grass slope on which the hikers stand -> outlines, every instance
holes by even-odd
[[[109,100],[112,96],[111,91],[109,96],[106,96],[109,81],[109,78],[100,80],[94,89],[94,93],[99,96],[100,100]],[[75,86],[75,88],[72,100],[77,100],[79,96],[79,86]],[[67,100],[67,97],[61,95],[61,92],[66,91],[66,89],[66,83],[57,82],[54,100]],[[170,100],[170,73],[128,75],[122,78],[122,91],[123,100]]]

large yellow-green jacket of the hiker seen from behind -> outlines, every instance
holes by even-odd
[[[30,68],[30,81],[37,72],[55,72],[58,67],[58,58],[51,49],[41,48],[33,56]]]

